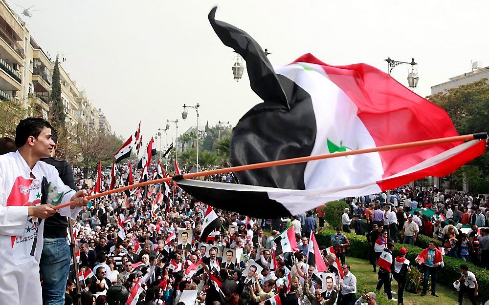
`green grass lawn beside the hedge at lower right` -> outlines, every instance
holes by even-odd
[[[366,291],[374,291],[375,287],[378,283],[377,273],[373,272],[372,265],[367,260],[362,260],[358,258],[347,257],[346,263],[351,265],[352,273],[356,276],[357,280],[357,291],[358,292],[366,292]],[[453,279],[455,282],[457,279]],[[398,285],[396,280],[392,281],[392,291],[397,292]],[[380,293],[383,293],[384,289],[380,289]],[[380,294],[378,293],[378,294]],[[359,293],[357,293],[358,295]],[[421,297],[419,294],[413,294],[410,292],[404,292],[404,304],[406,305],[454,305],[458,304],[458,294],[455,288],[445,287],[442,285],[436,286],[436,294],[439,296],[433,297],[430,292],[424,297]],[[397,295],[394,295],[394,298],[397,299]],[[378,296],[378,304],[397,304],[397,302],[390,302],[387,300],[386,295],[383,297]],[[468,299],[464,299],[464,304],[470,304]]]

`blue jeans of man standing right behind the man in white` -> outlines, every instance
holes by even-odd
[[[69,271],[69,245],[66,238],[44,238],[39,269],[43,277],[44,305],[64,305]]]

